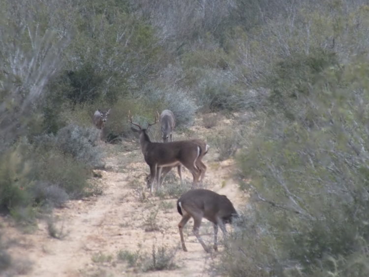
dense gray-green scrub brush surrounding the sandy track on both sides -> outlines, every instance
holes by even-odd
[[[128,110],[170,109],[184,130],[221,113],[237,124],[213,145],[250,201],[216,273],[369,276],[366,0],[0,2],[2,212],[34,224],[95,193],[97,108],[114,142],[132,136]],[[0,273],[10,263],[0,241]]]

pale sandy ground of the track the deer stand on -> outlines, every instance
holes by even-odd
[[[181,219],[176,208],[177,198],[143,198],[148,195],[145,173],[149,168],[139,146],[133,145],[136,149],[129,152],[121,151],[122,146],[106,147],[110,153],[106,159],[107,169],[99,171],[102,194],[68,201],[64,208],[54,211],[56,227],[65,235],[62,239],[49,236],[45,220],[38,221],[35,231],[24,233],[11,219],[0,217],[2,237],[13,242],[9,253],[15,266],[8,276],[209,276],[209,269],[219,255],[203,250],[192,235],[192,220],[184,232],[188,252],[182,250],[177,226]],[[231,176],[234,161],[217,161],[214,151],[211,148],[203,159],[208,166],[204,184],[227,195],[237,209],[246,200]],[[172,171],[169,180],[178,179],[175,170]],[[188,171],[183,175],[185,180],[191,180]],[[206,219],[203,219],[200,234],[207,244],[212,243],[213,227]],[[221,238],[219,232],[220,241]],[[124,250],[150,254],[153,246],[173,250],[177,268],[142,272],[129,267],[117,256]]]

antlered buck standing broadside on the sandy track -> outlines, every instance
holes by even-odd
[[[200,146],[186,140],[167,143],[152,142],[147,129],[157,123],[157,116],[155,116],[155,122],[148,123],[148,128],[146,129],[132,122],[130,112],[128,112],[128,120],[132,125],[139,128],[131,127],[131,130],[139,133],[141,152],[150,167],[150,176],[148,177],[147,183],[148,187],[150,187],[150,194],[153,193],[155,181],[157,188],[160,185],[159,177],[163,167],[174,167],[181,164],[191,172],[193,176],[192,186],[197,184],[201,175],[200,170],[196,166],[196,160],[201,155]]]

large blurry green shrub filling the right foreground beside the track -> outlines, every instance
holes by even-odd
[[[278,105],[267,111],[238,156],[251,203],[230,240],[233,261],[222,259],[232,276],[369,274],[368,68],[355,62],[297,75],[293,83],[310,89],[284,98],[292,116]],[[283,94],[290,92],[296,87]]]

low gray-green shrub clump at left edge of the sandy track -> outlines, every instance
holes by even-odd
[[[60,207],[89,187],[91,166],[58,150],[57,139],[38,136],[33,144],[23,139],[1,154],[0,207],[19,221],[32,221],[40,212],[37,207]]]

